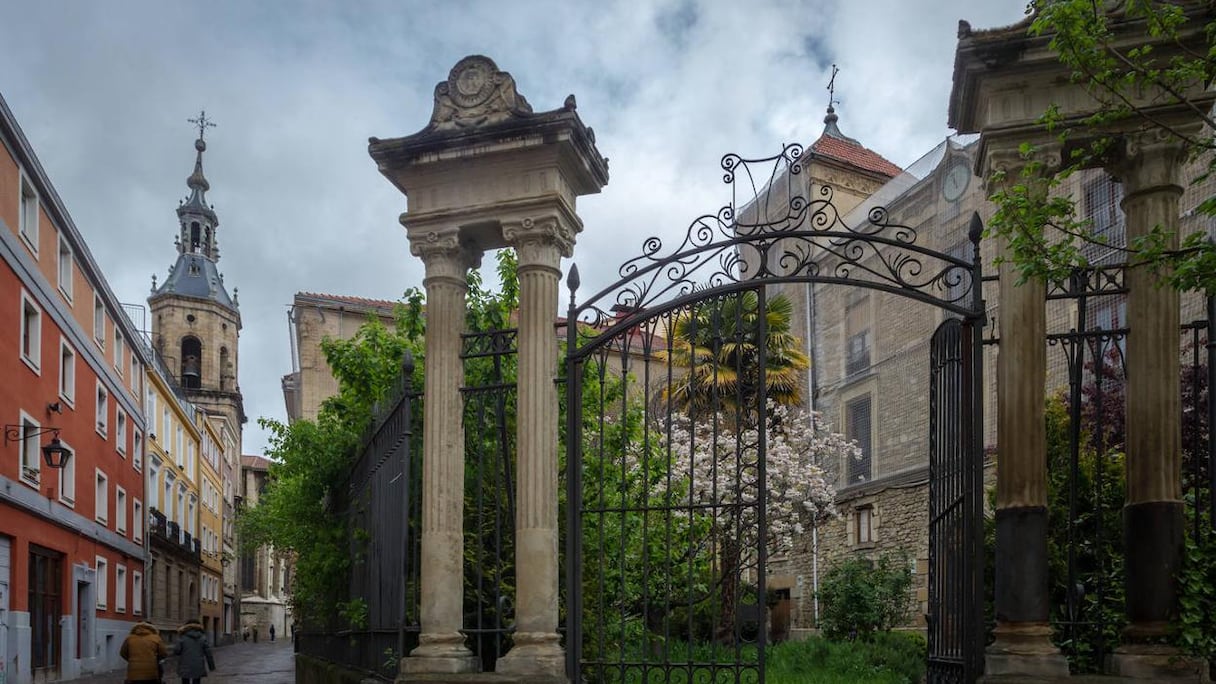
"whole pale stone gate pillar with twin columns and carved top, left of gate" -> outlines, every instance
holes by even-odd
[[[573,95],[558,110],[533,112],[511,74],[479,55],[457,62],[435,85],[426,128],[405,138],[372,138],[368,153],[409,196],[401,223],[411,252],[427,267],[422,505],[424,528],[432,529],[428,520],[437,527],[423,539],[421,645],[402,658],[398,680],[433,682],[432,673],[477,667],[460,634],[460,330],[468,267],[483,252],[503,247],[519,253],[520,302],[516,646],[500,669],[519,680],[564,680],[557,634],[558,276],[561,258],[570,256],[582,229],[575,202],[608,183],[608,161],[579,118]]]

